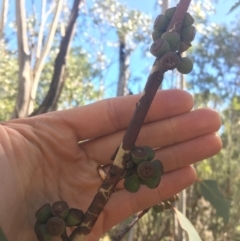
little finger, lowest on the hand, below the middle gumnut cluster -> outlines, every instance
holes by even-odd
[[[105,224],[103,232],[134,213],[173,196],[191,185],[195,180],[196,172],[194,168],[188,166],[165,174],[156,189],[143,186],[134,194],[126,190],[115,192],[99,217],[99,222],[102,221]]]

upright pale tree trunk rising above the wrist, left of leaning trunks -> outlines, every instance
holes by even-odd
[[[18,40],[18,95],[13,118],[23,118],[28,115],[31,93],[31,64],[27,39],[25,0],[16,0],[16,23]]]

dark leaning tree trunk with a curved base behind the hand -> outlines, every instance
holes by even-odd
[[[63,36],[61,40],[59,53],[55,60],[54,73],[51,80],[49,91],[43,103],[40,105],[40,107],[37,110],[35,110],[31,114],[31,116],[46,113],[56,109],[57,101],[61,94],[62,87],[64,85],[66,58],[67,58],[67,54],[70,48],[70,43],[74,34],[76,21],[79,14],[79,6],[81,2],[82,0],[74,0],[73,7],[71,10],[70,20],[66,28],[66,35]]]

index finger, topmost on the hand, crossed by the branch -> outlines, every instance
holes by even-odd
[[[48,115],[58,116],[76,133],[79,140],[92,139],[126,128],[141,95],[106,99],[75,109]],[[192,96],[182,90],[157,92],[146,122],[188,112],[193,107]]]

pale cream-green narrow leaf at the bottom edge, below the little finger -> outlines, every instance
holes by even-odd
[[[173,208],[178,222],[183,230],[186,231],[188,235],[188,241],[202,241],[195,227],[191,224],[191,222],[184,216],[181,212],[179,212],[176,208]]]

